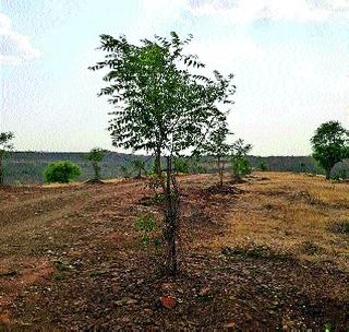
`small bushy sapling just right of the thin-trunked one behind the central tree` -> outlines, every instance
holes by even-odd
[[[251,166],[246,159],[246,154],[252,150],[251,144],[244,144],[243,140],[239,139],[232,144],[231,166],[232,174],[236,180],[251,173]]]

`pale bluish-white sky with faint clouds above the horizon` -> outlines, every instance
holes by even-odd
[[[229,126],[254,155],[308,155],[320,123],[349,127],[349,0],[0,0],[0,131],[19,151],[120,151],[87,70],[98,36],[171,31],[234,73]]]

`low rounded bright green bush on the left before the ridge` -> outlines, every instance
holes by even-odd
[[[44,170],[46,182],[69,183],[81,175],[81,168],[71,162],[61,161],[49,164]]]

